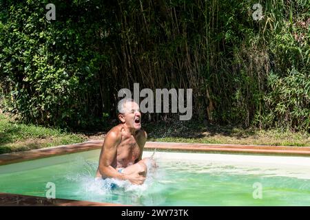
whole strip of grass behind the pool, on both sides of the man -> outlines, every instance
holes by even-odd
[[[242,129],[203,122],[169,121],[144,124],[148,141],[203,144],[258,144],[273,146],[310,146],[310,133],[281,130]],[[32,124],[15,122],[0,113],[0,154],[37,148],[103,140],[107,131],[67,133]]]

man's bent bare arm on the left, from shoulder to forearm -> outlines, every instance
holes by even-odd
[[[126,179],[123,173],[119,173],[113,166],[116,162],[116,150],[121,143],[121,134],[114,131],[107,133],[99,159],[99,172],[103,177]],[[115,164],[116,166],[116,164]]]

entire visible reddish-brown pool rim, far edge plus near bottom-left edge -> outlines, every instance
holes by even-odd
[[[69,153],[92,151],[101,148],[103,140],[69,144],[52,148],[41,148],[17,153],[0,155],[0,166],[14,164],[32,159],[54,157]],[[169,152],[199,152],[199,153],[234,153],[249,155],[282,155],[282,156],[310,156],[310,146],[266,146],[266,145],[240,145],[240,144],[187,144],[172,142],[147,142],[145,150]],[[100,203],[92,201],[77,201],[70,199],[46,199],[28,195],[16,195],[0,192],[0,206],[124,206],[115,203]]]

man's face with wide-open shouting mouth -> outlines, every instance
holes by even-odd
[[[141,112],[138,104],[136,102],[125,102],[124,110],[125,113],[122,115],[127,127],[136,130],[141,129]]]

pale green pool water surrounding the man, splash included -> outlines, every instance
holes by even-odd
[[[95,181],[100,151],[0,166],[0,192],[134,206],[309,206],[309,159],[156,152],[158,170],[141,186]],[[144,155],[150,155],[146,152]],[[275,159],[273,159],[275,158]],[[285,160],[286,159],[286,160]],[[297,161],[297,163],[296,163]],[[270,162],[270,164],[268,163]],[[297,164],[297,165],[296,165]]]

